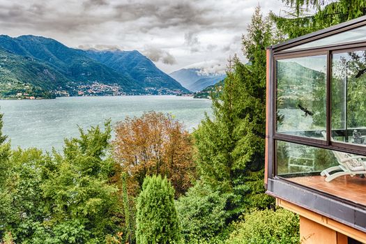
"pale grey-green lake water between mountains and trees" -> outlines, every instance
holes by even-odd
[[[0,100],[3,132],[11,139],[13,148],[37,147],[60,150],[63,138],[77,137],[77,125],[89,128],[102,125],[106,119],[113,123],[126,116],[141,116],[143,112],[171,113],[194,130],[211,114],[211,100],[177,96],[106,96],[71,97],[53,100]]]

